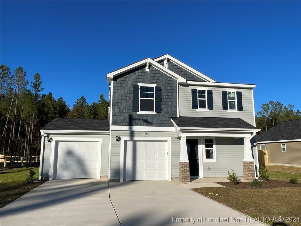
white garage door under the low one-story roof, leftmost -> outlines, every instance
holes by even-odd
[[[96,178],[97,166],[98,142],[58,142],[57,179]]]

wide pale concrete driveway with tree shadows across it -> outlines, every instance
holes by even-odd
[[[0,214],[2,226],[262,225],[166,180],[51,180],[1,208]],[[226,222],[217,224],[221,219]]]

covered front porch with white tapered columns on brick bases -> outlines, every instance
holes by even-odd
[[[234,170],[244,180],[258,178],[256,127],[240,118],[172,118],[181,140],[179,182],[227,177]]]

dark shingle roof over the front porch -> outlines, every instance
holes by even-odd
[[[171,119],[178,127],[256,129],[241,118],[179,117]]]

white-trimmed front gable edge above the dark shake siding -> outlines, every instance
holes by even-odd
[[[167,69],[166,67],[162,66],[161,64],[157,63],[156,61],[152,60],[151,58],[145,58],[144,60],[138,61],[136,63],[130,64],[126,67],[122,67],[116,71],[112,71],[110,73],[107,74],[107,80],[111,80],[113,77],[118,76],[120,74],[123,74],[127,71],[131,71],[136,67],[140,67],[142,65],[145,64],[145,67],[147,67],[147,65],[151,65],[154,68],[156,68],[159,71],[162,71],[163,73],[169,75],[170,77],[172,77],[173,79],[177,80],[178,82],[184,82],[186,83],[186,79],[179,76],[178,74],[174,73],[173,71],[170,71],[169,69]]]

